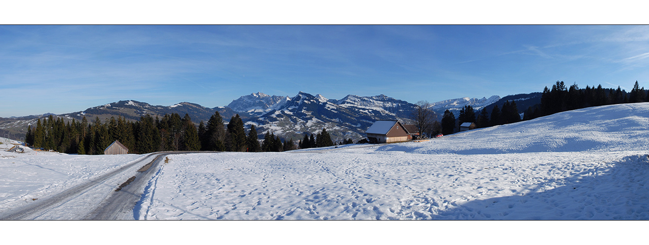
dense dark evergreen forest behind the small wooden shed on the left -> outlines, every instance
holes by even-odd
[[[314,136],[304,135],[308,142],[295,144],[293,140],[282,141],[279,136],[267,131],[260,142],[254,125],[245,133],[243,120],[232,116],[225,125],[219,112],[215,112],[205,124],[198,127],[188,114],[183,118],[177,113],[165,114],[154,119],[147,114],[140,121],[130,122],[125,118],[110,118],[102,123],[99,118],[89,123],[86,117],[80,122],[64,123],[63,118],[49,116],[28,127],[25,142],[36,149],[53,150],[60,153],[103,154],[104,149],[115,140],[129,148],[129,153],[145,154],[156,151],[290,151],[310,147],[334,145],[325,129]],[[345,141],[344,143],[349,143]]]

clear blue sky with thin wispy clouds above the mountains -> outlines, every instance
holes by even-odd
[[[253,92],[415,103],[637,80],[649,27],[0,25],[0,117],[119,100],[224,106]]]

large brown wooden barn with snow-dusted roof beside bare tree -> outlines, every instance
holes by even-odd
[[[408,130],[395,120],[378,120],[365,131],[370,143],[391,143],[408,140]]]

